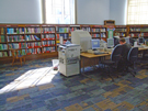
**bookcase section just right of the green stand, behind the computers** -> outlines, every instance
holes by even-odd
[[[126,25],[116,25],[114,31],[114,36],[126,37],[127,36]]]

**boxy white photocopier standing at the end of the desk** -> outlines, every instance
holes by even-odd
[[[80,45],[59,45],[58,58],[60,74],[67,77],[80,74]]]

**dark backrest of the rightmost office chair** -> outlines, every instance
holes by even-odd
[[[128,62],[136,62],[138,58],[138,47],[132,47],[127,55]]]

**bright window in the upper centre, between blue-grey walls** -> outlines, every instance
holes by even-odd
[[[45,0],[45,23],[75,24],[75,0]]]

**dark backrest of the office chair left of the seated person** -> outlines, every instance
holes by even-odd
[[[118,62],[121,59],[121,54],[122,54],[123,47],[121,44],[117,44],[112,54],[111,54],[111,60],[113,62]]]

